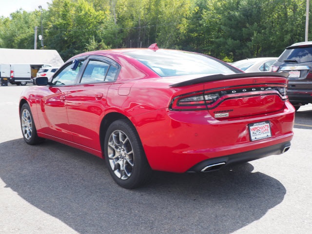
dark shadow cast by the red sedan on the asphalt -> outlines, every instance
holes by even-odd
[[[155,172],[149,184],[126,190],[104,160],[54,141],[15,139],[0,143],[0,152],[5,187],[81,234],[229,234],[286,194],[250,163],[207,174]]]

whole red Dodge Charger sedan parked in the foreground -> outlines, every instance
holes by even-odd
[[[209,172],[286,152],[287,77],[155,44],[87,52],[23,91],[22,134],[105,158],[117,184],[135,188],[153,170]]]

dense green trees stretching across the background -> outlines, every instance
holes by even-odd
[[[305,7],[305,0],[53,0],[42,12],[44,48],[63,59],[155,42],[226,61],[279,56],[304,40]],[[37,10],[1,17],[0,47],[33,48],[35,26]]]

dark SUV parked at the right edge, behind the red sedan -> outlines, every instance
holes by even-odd
[[[312,103],[312,41],[287,47],[270,71],[289,73],[288,98],[296,110]]]

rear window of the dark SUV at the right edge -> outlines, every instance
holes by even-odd
[[[311,62],[312,47],[287,49],[277,60],[280,62],[284,62],[285,60],[293,60],[293,62]]]

